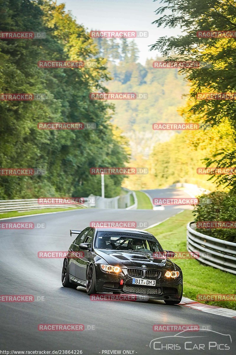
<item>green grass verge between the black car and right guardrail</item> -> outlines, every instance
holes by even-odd
[[[186,224],[193,220],[192,212],[185,210],[148,231],[155,235],[164,250],[187,251]],[[183,271],[183,296],[197,301],[197,294],[236,294],[236,276],[205,266],[195,259],[172,259]],[[202,302],[236,310],[235,301]]]

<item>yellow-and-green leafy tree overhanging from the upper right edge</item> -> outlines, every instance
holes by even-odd
[[[195,60],[206,62],[210,67],[201,65],[198,69],[181,69],[190,83],[191,105],[188,107],[191,116],[197,115],[202,122],[218,126],[220,122],[229,120],[236,140],[236,108],[234,100],[198,100],[197,94],[234,93],[236,73],[232,63],[236,59],[236,43],[234,38],[200,38],[197,31],[231,31],[236,27],[236,6],[234,0],[162,0],[164,6],[156,10],[160,16],[157,27],[180,26],[183,35],[178,37],[161,37],[151,46],[163,55],[173,52],[176,60]],[[173,60],[173,59],[172,59]],[[220,148],[220,147],[219,147]],[[236,162],[236,151],[219,151],[214,159],[208,158],[207,165],[228,167]],[[215,176],[219,185],[226,185],[236,192],[236,175]]]

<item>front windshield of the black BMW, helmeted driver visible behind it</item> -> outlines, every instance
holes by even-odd
[[[95,248],[111,249],[117,251],[138,251],[145,253],[159,253],[163,249],[154,240],[154,237],[145,234],[135,235],[120,232],[99,231],[96,237]]]

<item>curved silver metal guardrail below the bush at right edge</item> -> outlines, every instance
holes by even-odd
[[[196,224],[187,225],[187,249],[198,252],[198,261],[236,275],[236,243],[199,233]]]

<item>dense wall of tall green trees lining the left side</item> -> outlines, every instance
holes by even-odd
[[[106,60],[83,26],[65,5],[47,0],[0,0],[6,12],[1,31],[47,33],[46,39],[0,40],[0,92],[45,93],[46,100],[0,102],[0,166],[44,168],[44,176],[1,176],[0,198],[85,196],[100,186],[90,175],[93,166],[125,165],[127,154],[115,140],[110,124],[113,106],[91,100],[107,91]],[[40,69],[39,60],[84,60],[96,66],[80,69]],[[95,130],[42,131],[38,122],[94,122]],[[117,195],[122,176],[108,176],[110,196]],[[78,196],[77,196],[78,197]]]

